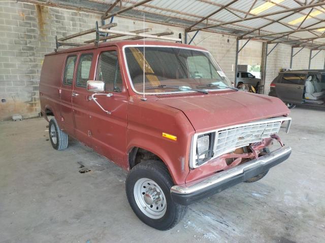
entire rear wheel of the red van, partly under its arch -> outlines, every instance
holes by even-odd
[[[53,134],[55,132],[55,135]],[[50,119],[49,123],[49,136],[52,147],[56,150],[63,150],[68,147],[68,135],[61,131],[59,126],[57,125],[56,119]],[[56,141],[54,139],[56,136]]]

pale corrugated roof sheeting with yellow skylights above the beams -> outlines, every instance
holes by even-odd
[[[115,0],[88,0],[88,1],[105,3],[107,4],[108,7],[115,2]],[[122,0],[122,5],[123,7],[129,7],[141,1],[142,0]],[[223,6],[230,4],[231,2],[232,0],[152,0],[146,4],[134,8],[132,11],[127,11],[121,14],[121,16],[124,15],[127,17],[132,17],[132,14],[134,14],[135,18],[139,18],[141,16],[139,12],[140,13],[145,12],[148,21],[152,20],[155,22],[161,22],[163,24],[179,25],[181,27],[186,28],[193,25],[194,23],[197,23],[202,18],[205,18],[206,16],[217,11]],[[306,16],[311,10],[311,8],[307,8],[295,14],[291,14],[293,12],[286,12],[281,14],[270,15],[263,18],[246,20],[246,21],[241,21],[241,22],[236,22],[231,24],[224,24],[227,22],[240,20],[240,18],[243,19],[246,17],[253,17],[256,15],[258,16],[258,15],[272,14],[278,11],[290,10],[305,5],[305,1],[303,0],[282,0],[282,1],[281,0],[257,0],[254,6],[252,7],[254,2],[255,2],[254,0],[238,0],[237,2],[227,7],[229,11],[223,9],[218,13],[212,15],[211,17],[208,18],[208,24],[220,25],[220,26],[211,27],[207,30],[214,31],[214,32],[235,34],[239,36],[244,35],[249,31],[256,30],[255,32],[250,33],[248,36],[254,37],[262,34],[270,34],[270,36],[263,36],[263,38],[266,40],[273,39],[279,36],[276,35],[276,33],[298,29],[302,20],[298,21],[295,24],[289,24],[289,22],[297,20],[299,18],[304,19],[304,16]],[[316,3],[318,2],[315,1],[312,2],[311,4],[313,5]],[[251,10],[266,5],[269,6],[269,8],[264,9],[264,11],[257,12],[256,15],[253,15],[251,13]],[[325,6],[325,3],[323,6]],[[314,14],[313,17],[306,18],[306,20],[304,20],[300,28],[308,27],[312,24],[325,20],[325,8],[322,8],[323,6],[314,7],[311,13],[313,13],[314,11],[319,11],[319,13],[317,12],[317,14]],[[118,4],[111,11],[111,13],[114,13],[119,10],[120,7]],[[135,14],[137,12],[138,14]],[[275,20],[278,20],[280,18],[283,19],[281,19],[279,22],[274,22]],[[272,23],[272,21],[274,23]],[[323,27],[323,25],[325,25],[325,22],[324,24],[319,24],[319,25],[317,24],[314,26]],[[192,29],[196,30],[197,28],[200,29],[206,26],[207,26],[207,21],[204,20],[201,23],[195,25]],[[258,29],[259,31],[257,31]],[[304,38],[306,38],[306,37],[315,37],[316,36],[315,34],[317,35],[321,34],[321,32],[316,30],[313,30],[312,32],[313,33],[308,31],[299,32],[299,35],[296,36],[302,36],[303,33]],[[292,34],[290,36],[295,36],[295,34]]]

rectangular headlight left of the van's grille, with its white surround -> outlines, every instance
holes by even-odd
[[[197,168],[212,157],[215,133],[194,135],[190,155],[190,167]]]

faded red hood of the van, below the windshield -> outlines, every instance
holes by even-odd
[[[278,98],[241,91],[212,92],[208,95],[195,93],[190,96],[164,95],[156,102],[183,111],[197,132],[289,113],[289,109]]]

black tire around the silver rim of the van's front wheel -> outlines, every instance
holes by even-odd
[[[152,219],[148,217],[142,212],[136,202],[135,185],[138,180],[145,178],[155,182],[165,194],[166,212],[161,218]],[[186,213],[186,206],[174,203],[170,193],[172,186],[174,186],[174,183],[167,167],[161,161],[157,160],[147,160],[136,165],[132,168],[125,181],[127,200],[135,214],[142,222],[158,230],[173,228]],[[148,189],[150,188],[148,187]]]

